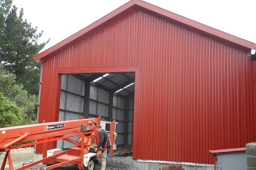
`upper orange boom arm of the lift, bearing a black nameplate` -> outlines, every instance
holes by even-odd
[[[82,124],[98,125],[100,117],[0,128],[0,151],[5,151],[15,143],[77,133],[80,132]]]

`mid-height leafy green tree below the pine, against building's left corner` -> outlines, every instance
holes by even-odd
[[[0,64],[0,92],[20,108],[20,125],[36,123],[38,97],[17,84],[15,75],[6,71],[3,64]]]

